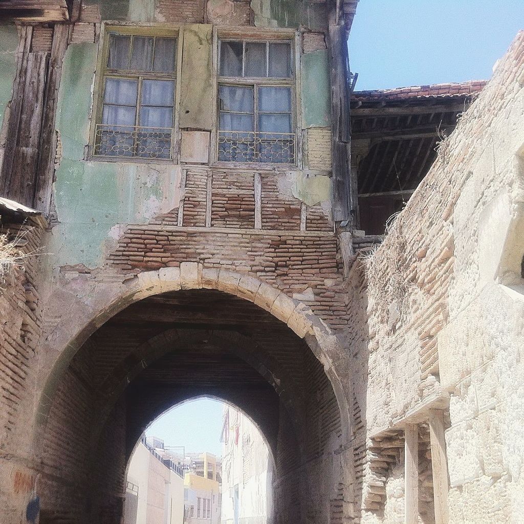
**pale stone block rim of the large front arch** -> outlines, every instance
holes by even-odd
[[[290,298],[253,275],[224,268],[205,268],[196,262],[141,272],[136,278],[125,282],[108,280],[110,279],[106,275],[95,280],[90,286],[90,292],[82,299],[73,300],[67,316],[43,337],[37,389],[40,393],[34,432],[34,450],[37,455],[41,451],[41,435],[46,427],[51,399],[60,376],[80,347],[101,325],[128,305],[156,294],[181,289],[220,290],[253,302],[284,322],[303,339],[322,364],[331,383],[340,411],[342,442],[345,444],[349,441],[350,415],[347,398],[350,397],[348,395],[346,398],[345,393],[351,391],[351,385],[347,383],[348,356],[329,326],[306,304]],[[71,292],[67,293],[69,297]],[[51,315],[53,311],[57,316],[62,314],[63,300],[64,296],[59,294],[50,298],[47,307]]]

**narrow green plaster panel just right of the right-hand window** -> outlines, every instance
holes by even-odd
[[[331,86],[328,51],[302,56],[302,122],[304,128],[331,125]]]

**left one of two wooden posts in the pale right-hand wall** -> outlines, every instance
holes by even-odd
[[[417,424],[407,424],[404,430],[405,522],[419,520],[419,430]]]

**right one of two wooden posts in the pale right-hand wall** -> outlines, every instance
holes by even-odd
[[[441,409],[429,410],[431,467],[433,470],[433,495],[435,499],[435,524],[447,524],[447,459],[444,440],[444,413]]]

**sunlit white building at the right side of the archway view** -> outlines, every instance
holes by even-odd
[[[260,431],[225,407],[222,441],[222,524],[271,522],[273,466]]]

